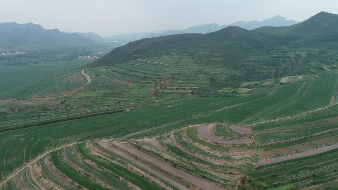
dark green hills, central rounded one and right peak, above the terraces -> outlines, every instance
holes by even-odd
[[[331,67],[335,62],[332,42],[337,42],[337,34],[338,15],[320,12],[302,23],[286,27],[255,30],[226,27],[206,34],[142,39],[114,49],[89,66],[152,57],[161,60],[161,57],[174,54],[193,59],[195,64],[236,70],[242,78],[253,80],[308,74],[327,68],[323,63]]]

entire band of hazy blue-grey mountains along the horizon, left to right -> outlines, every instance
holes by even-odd
[[[239,26],[248,30],[260,26],[288,26],[296,24],[294,20],[286,20],[279,15],[263,21],[239,21],[229,25],[204,24],[190,27],[184,30],[161,30],[156,32],[143,32],[132,34],[121,34],[110,37],[101,37],[92,32],[89,33],[67,33],[58,29],[47,30],[42,26],[27,23],[1,23],[0,24],[0,51],[29,50],[54,47],[93,47],[102,45],[107,41],[131,42],[143,38],[165,36],[181,33],[207,33],[220,30],[227,26]]]

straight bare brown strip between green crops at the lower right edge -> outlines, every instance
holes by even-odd
[[[319,147],[319,148],[316,148],[316,149],[312,149],[312,150],[308,150],[308,151],[304,151],[304,152],[300,152],[300,153],[296,153],[296,154],[291,154],[291,155],[285,155],[285,156],[281,156],[281,157],[267,158],[267,159],[262,158],[259,161],[257,166],[273,164],[273,163],[282,162],[282,161],[286,161],[286,160],[291,160],[291,159],[302,158],[302,157],[311,156],[311,155],[315,155],[315,154],[320,154],[320,153],[327,152],[327,151],[330,151],[330,150],[333,150],[333,149],[336,149],[336,148],[338,148],[338,143],[330,145],[330,146],[322,146],[322,147]]]

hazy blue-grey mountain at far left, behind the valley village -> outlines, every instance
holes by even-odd
[[[58,29],[46,30],[33,23],[1,23],[0,49],[32,49],[45,47],[84,47],[95,42],[78,34],[69,34]]]

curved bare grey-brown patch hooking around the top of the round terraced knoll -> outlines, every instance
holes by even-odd
[[[246,143],[253,143],[252,139],[249,138],[242,138],[242,139],[223,139],[220,137],[217,137],[213,134],[213,129],[215,127],[215,124],[203,124],[200,125],[197,129],[197,133],[212,142],[217,142],[220,144],[246,144]]]

